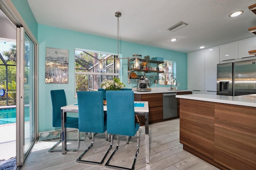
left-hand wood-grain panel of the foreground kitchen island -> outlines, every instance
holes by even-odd
[[[214,159],[214,103],[180,99],[180,143]]]

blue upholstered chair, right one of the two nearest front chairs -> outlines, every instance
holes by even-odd
[[[113,141],[113,135],[116,135],[117,145],[105,166],[117,169],[129,169],[121,166],[110,165],[110,160],[118,150],[119,135],[134,136],[137,132],[137,150],[131,168],[134,170],[140,145],[138,131],[140,125],[135,123],[134,120],[134,93],[130,90],[106,91],[106,99],[108,115],[107,131],[109,134],[111,134],[111,145]]]

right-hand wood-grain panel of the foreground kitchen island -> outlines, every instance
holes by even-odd
[[[215,106],[214,161],[232,170],[256,170],[256,108]]]

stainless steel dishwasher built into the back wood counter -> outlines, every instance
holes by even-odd
[[[163,118],[177,117],[177,93],[163,94]]]

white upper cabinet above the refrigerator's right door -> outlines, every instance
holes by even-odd
[[[248,51],[256,50],[256,37],[238,41],[238,58],[251,57]]]

